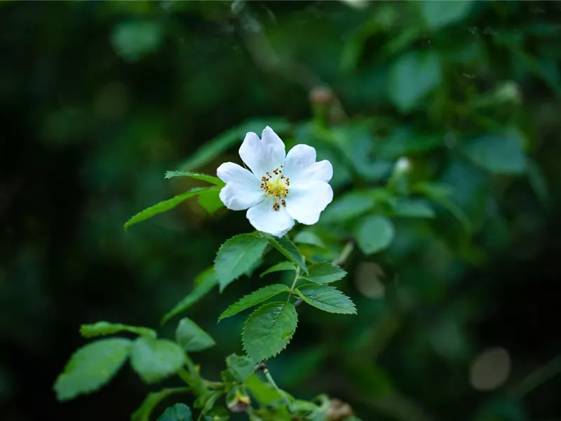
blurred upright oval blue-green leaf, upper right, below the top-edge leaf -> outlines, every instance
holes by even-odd
[[[409,112],[438,86],[441,78],[438,54],[412,52],[401,55],[390,69],[390,98],[401,112]]]

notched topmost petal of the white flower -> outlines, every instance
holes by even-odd
[[[241,159],[257,178],[261,178],[267,171],[280,168],[285,159],[285,144],[272,128],[267,126],[261,136],[259,139],[252,132],[245,135],[239,151]]]

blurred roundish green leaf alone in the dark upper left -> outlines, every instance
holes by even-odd
[[[161,24],[149,20],[120,22],[111,32],[113,48],[123,60],[128,62],[135,62],[156,51],[162,39]]]

